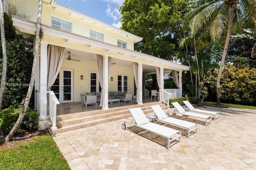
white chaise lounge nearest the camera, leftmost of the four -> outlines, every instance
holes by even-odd
[[[164,127],[162,125],[158,125],[156,123],[152,123],[152,122],[148,121],[148,118],[143,113],[143,111],[140,107],[129,109],[129,111],[132,114],[133,120],[132,121],[124,121],[124,123],[122,124],[122,129],[126,128],[125,123],[130,123],[135,127],[139,127],[144,130],[148,130],[149,132],[163,136],[164,138],[167,138],[167,140],[168,140],[168,144],[167,144],[168,150],[170,148],[170,142],[172,142],[173,140],[177,140],[178,138],[179,138],[179,142],[180,142],[181,131],[175,130],[172,128],[168,128],[168,127]],[[135,123],[132,123],[133,121],[135,121]],[[173,137],[172,139],[170,139],[170,136],[173,136],[175,134],[176,134],[176,136]]]

